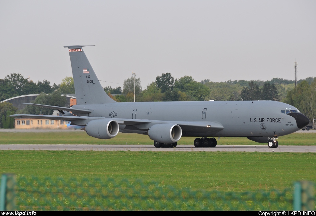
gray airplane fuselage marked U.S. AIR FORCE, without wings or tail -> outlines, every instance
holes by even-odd
[[[285,109],[297,109],[277,101],[125,102],[73,105],[73,108],[92,110],[89,114],[78,113],[80,116],[107,117],[114,120],[124,118],[215,122],[224,128],[221,131],[203,133],[183,130],[182,136],[272,137],[299,130],[295,118],[281,112]],[[129,132],[142,133],[137,130]]]

